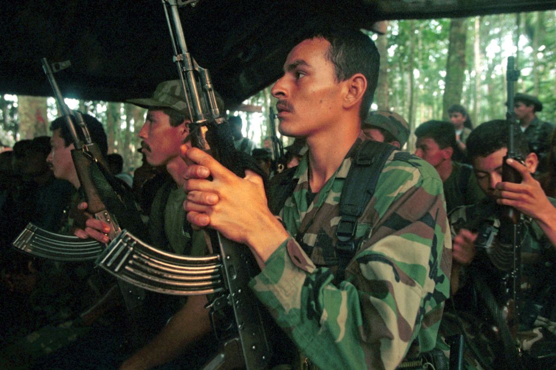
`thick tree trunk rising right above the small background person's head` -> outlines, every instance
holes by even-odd
[[[446,88],[442,100],[442,118],[448,120],[448,108],[460,104],[465,78],[466,18],[454,18],[450,22],[448,61],[446,63]]]

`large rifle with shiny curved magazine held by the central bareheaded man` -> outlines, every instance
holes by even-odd
[[[179,5],[195,1],[163,0],[176,63],[192,122],[192,145],[205,149],[201,128],[212,156],[243,177],[244,169],[228,123],[220,115],[209,71],[200,67],[187,51],[178,13]],[[203,99],[201,98],[201,94]],[[127,231],[108,246],[99,265],[135,285],[161,293],[200,295],[214,293],[209,303],[211,321],[221,351],[206,368],[259,369],[269,366],[270,345],[263,325],[264,311],[247,287],[258,267],[249,249],[231,242],[215,230],[206,230],[220,254],[207,257],[178,256],[157,250]],[[233,317],[232,320],[231,317]]]

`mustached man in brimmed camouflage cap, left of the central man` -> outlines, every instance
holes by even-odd
[[[180,158],[180,146],[188,139],[190,134],[188,125],[191,119],[187,104],[183,102],[180,81],[163,82],[157,86],[152,98],[132,99],[128,102],[148,109],[145,124],[139,132],[142,140],[141,153],[145,154],[150,165],[165,166],[172,179],[162,185],[153,200],[147,225],[150,237],[148,242],[158,249],[174,254],[193,256],[206,254],[206,244],[202,232],[192,231],[190,224],[185,221],[185,211],[182,207],[186,197],[182,190],[185,182],[182,174],[187,168],[187,164]],[[107,226],[100,220],[89,219],[87,228],[76,231],[76,235],[108,242],[108,237],[104,234]],[[154,295],[153,299],[149,301],[149,305],[152,303],[151,311],[157,311],[158,308],[168,311],[167,307],[162,307],[166,305],[162,302],[167,302],[169,299],[174,300],[173,297],[150,294]],[[191,343],[195,342],[196,347],[206,346],[207,344],[200,340],[210,332],[211,328],[209,313],[205,308],[206,303],[206,296],[189,297],[185,305],[177,312],[175,310],[170,312],[176,313],[149,343],[127,358],[121,368],[138,369],[160,366],[180,356]],[[155,312],[155,314],[157,313]],[[148,337],[143,339],[148,339]],[[195,353],[199,353],[199,351],[191,351],[191,355],[187,356],[187,361],[191,359],[191,361],[199,361],[199,363],[188,362],[187,366],[200,366],[205,361],[202,358],[192,360],[192,357],[196,356]],[[210,351],[205,349],[202,353],[206,356]],[[113,359],[115,362],[118,359],[120,361],[125,359],[125,357],[118,358],[118,356],[121,354],[116,354],[116,358]],[[81,363],[83,363],[83,359],[81,359]],[[107,365],[113,367],[118,364],[107,363]],[[180,363],[181,365],[183,364]]]

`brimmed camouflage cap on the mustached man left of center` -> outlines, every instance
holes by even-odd
[[[216,104],[220,109],[220,113],[224,113],[224,100],[220,97],[218,93],[216,95]],[[201,97],[204,102],[204,98]],[[127,103],[138,105],[141,108],[153,109],[153,108],[172,108],[186,116],[189,116],[189,110],[187,109],[187,103],[183,97],[183,89],[181,87],[180,80],[169,80],[161,82],[157,85],[155,93],[152,98],[145,99],[130,99],[126,100]]]

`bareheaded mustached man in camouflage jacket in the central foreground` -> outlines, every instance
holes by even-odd
[[[361,192],[365,209],[347,222],[355,250],[338,245],[339,199],[350,167],[360,164],[367,139],[361,120],[378,68],[374,43],[354,29],[323,29],[291,50],[272,95],[280,132],[305,138],[309,150],[299,166],[273,179],[271,203],[292,185],[273,205],[277,216],[258,176],[241,179],[201,150],[186,152],[196,163],[186,169],[187,219],[250,248],[261,267],[250,287],[305,363],[319,368],[420,361],[419,353],[435,346],[449,295],[442,182],[415,156],[389,155],[374,195],[366,202]]]

